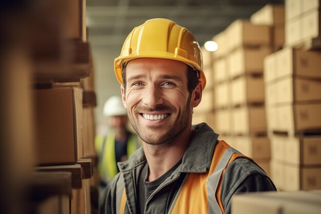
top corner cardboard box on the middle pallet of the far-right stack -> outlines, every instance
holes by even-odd
[[[278,79],[283,76],[305,76],[321,78],[321,52],[303,51],[284,48],[276,52],[276,76]]]

